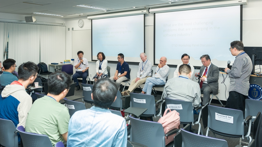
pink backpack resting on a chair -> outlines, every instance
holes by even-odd
[[[167,113],[167,110],[169,110],[169,113]],[[176,112],[176,110],[171,111],[169,108],[167,108],[164,112],[163,117],[161,117],[157,122],[163,125],[164,133],[166,134],[168,131],[173,130],[174,128],[179,128],[180,116],[179,113]],[[165,137],[166,145],[174,141],[175,135],[176,134],[171,135],[168,138]]]

